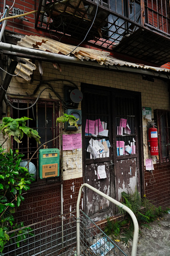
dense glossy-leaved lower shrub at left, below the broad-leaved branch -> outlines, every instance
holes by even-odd
[[[30,187],[33,174],[28,169],[20,167],[22,155],[14,154],[10,149],[5,152],[0,147],[0,252],[9,236],[7,232],[14,226],[15,207],[24,200],[24,191]]]

